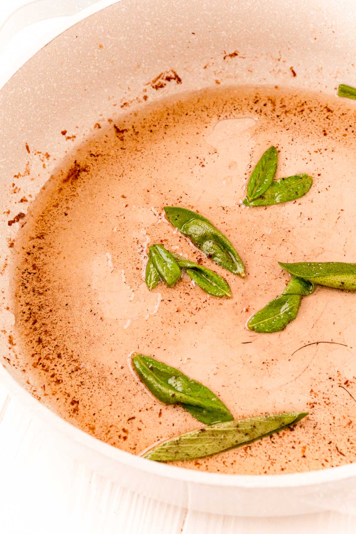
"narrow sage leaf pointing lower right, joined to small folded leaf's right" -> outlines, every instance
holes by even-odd
[[[186,271],[188,276],[209,295],[216,297],[231,298],[231,289],[227,281],[216,272],[210,271],[199,263],[186,260],[183,256],[172,252],[172,256],[177,261],[179,267]]]

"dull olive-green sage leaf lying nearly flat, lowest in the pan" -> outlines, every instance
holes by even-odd
[[[158,462],[194,460],[246,445],[279,432],[303,419],[307,413],[280,413],[218,423],[169,439],[144,454]]]

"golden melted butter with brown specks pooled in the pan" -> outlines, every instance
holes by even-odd
[[[236,418],[310,412],[292,430],[179,465],[273,474],[355,461],[356,294],[319,287],[284,332],[246,328],[289,279],[278,260],[356,262],[354,124],[352,101],[275,88],[199,92],[147,105],[116,128],[101,123],[43,188],[15,243],[15,341],[33,394],[133,454],[200,428],[140,384],[129,364],[138,351],[201,381]],[[245,208],[247,179],[272,144],[276,178],[306,172],[312,189],[295,202]],[[209,218],[247,277],[203,258],[165,220],[167,205]],[[210,297],[186,277],[149,292],[144,268],[155,242],[203,258],[233,299]]]

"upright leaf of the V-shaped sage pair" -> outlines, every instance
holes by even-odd
[[[247,186],[247,199],[249,202],[257,199],[270,187],[277,170],[278,152],[271,146],[262,155],[252,171]]]

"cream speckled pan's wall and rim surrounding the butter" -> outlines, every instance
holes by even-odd
[[[47,15],[39,13],[35,19]],[[217,73],[222,85],[283,85],[329,95],[340,82],[356,85],[355,18],[353,0],[122,0],[68,28],[1,90],[0,379],[31,417],[57,433],[58,447],[111,480],[203,512],[267,516],[355,511],[355,464],[290,475],[200,473],[118,450],[39,403],[27,390],[26,373],[13,365],[16,348],[9,345],[14,324],[8,305],[9,244],[21,221],[7,224],[19,212],[26,216],[30,203],[20,209],[20,197],[36,197],[69,148],[90,135],[100,114],[115,120],[125,110],[114,104],[123,100],[144,105],[143,88],[161,72],[175,70],[182,83],[171,81],[160,91],[151,90],[151,101],[210,87]],[[224,60],[234,51],[239,51],[234,60]],[[76,132],[70,147],[61,135],[64,129]],[[27,152],[26,143],[51,155],[46,168]],[[10,193],[14,175],[19,175],[20,196]]]

